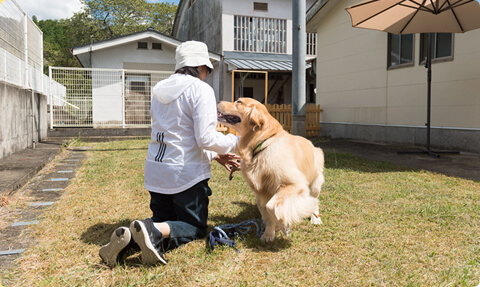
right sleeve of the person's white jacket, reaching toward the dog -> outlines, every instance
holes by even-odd
[[[193,103],[195,139],[199,147],[226,154],[237,151],[239,137],[216,130],[217,105],[213,89],[206,83],[197,84]]]

